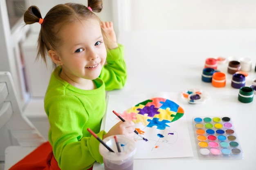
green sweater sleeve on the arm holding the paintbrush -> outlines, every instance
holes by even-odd
[[[51,113],[48,115],[49,142],[61,170],[86,170],[95,161],[103,163],[99,141],[84,130],[87,129],[84,126],[88,126],[88,113],[77,97],[52,97],[45,108]],[[105,134],[105,131],[97,133],[101,139]]]

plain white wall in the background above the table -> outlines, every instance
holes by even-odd
[[[120,1],[117,0],[119,3]],[[256,0],[121,0],[126,30],[256,29]]]

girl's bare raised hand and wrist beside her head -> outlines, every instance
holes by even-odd
[[[113,22],[101,22],[101,28],[108,34],[108,37],[110,38],[110,48],[117,48],[117,37],[114,31]]]

